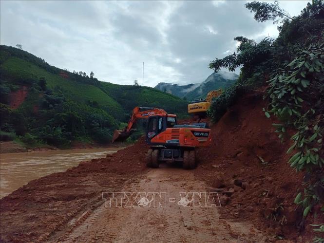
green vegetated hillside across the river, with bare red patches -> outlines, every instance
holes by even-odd
[[[20,97],[23,90],[26,97]],[[186,115],[187,103],[149,87],[117,85],[68,72],[14,47],[0,46],[1,140],[68,147],[108,143],[135,106]],[[23,101],[18,107],[14,103]]]

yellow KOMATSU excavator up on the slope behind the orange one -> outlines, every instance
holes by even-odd
[[[222,89],[212,90],[207,94],[206,99],[192,100],[188,104],[188,113],[192,114],[194,117],[205,118],[212,99],[218,97],[222,93]]]

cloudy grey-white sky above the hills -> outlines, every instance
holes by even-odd
[[[215,57],[234,52],[236,36],[277,37],[247,1],[0,1],[0,43],[101,81],[154,87],[205,80]],[[270,1],[273,2],[273,1]],[[297,16],[308,1],[279,1]],[[236,72],[239,72],[237,70]]]

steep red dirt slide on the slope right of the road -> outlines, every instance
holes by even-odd
[[[219,193],[223,217],[253,222],[278,239],[300,240],[299,229],[312,239],[293,203],[304,175],[287,164],[291,142],[280,142],[272,126],[278,121],[265,116],[265,106],[260,94],[249,94],[213,125],[212,146],[197,151],[195,175]]]

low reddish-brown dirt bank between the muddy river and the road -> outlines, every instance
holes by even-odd
[[[75,217],[103,202],[147,168],[144,139],[106,158],[81,162],[65,172],[33,180],[0,200],[1,242],[45,241]]]

